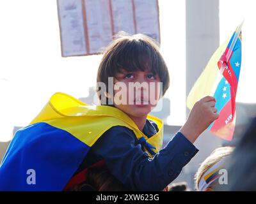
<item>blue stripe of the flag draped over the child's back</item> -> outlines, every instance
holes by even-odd
[[[22,128],[0,166],[0,191],[61,191],[90,147],[63,129],[38,122]],[[28,184],[29,169],[36,184]]]

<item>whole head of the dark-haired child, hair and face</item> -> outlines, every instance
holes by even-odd
[[[169,81],[156,41],[143,34],[118,33],[100,62],[97,93],[101,105],[112,105],[140,117],[157,105]]]

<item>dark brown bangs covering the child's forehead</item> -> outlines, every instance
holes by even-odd
[[[113,73],[150,71],[157,73],[157,54],[153,47],[140,40],[124,42],[124,45],[116,53],[116,66],[113,66]]]

